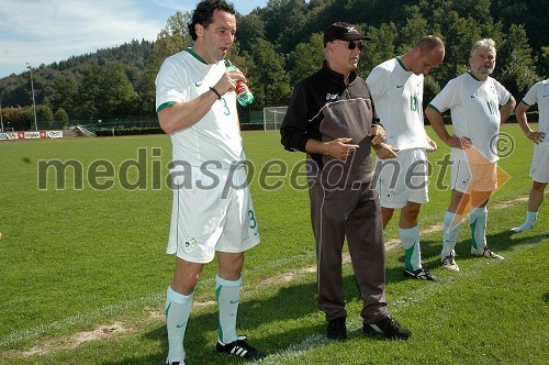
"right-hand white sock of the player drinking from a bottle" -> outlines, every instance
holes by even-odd
[[[236,341],[236,314],[240,300],[242,278],[236,281],[215,276],[215,298],[220,307],[220,340],[223,343]]]

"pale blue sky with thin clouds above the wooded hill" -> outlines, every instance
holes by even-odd
[[[248,14],[268,0],[231,0]],[[71,56],[156,41],[168,18],[198,0],[0,0],[0,78]]]

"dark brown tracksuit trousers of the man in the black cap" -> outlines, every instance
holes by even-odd
[[[326,320],[347,317],[341,277],[345,237],[360,288],[360,316],[372,323],[388,316],[384,291],[385,248],[379,197],[373,182],[360,188],[310,188],[311,221],[316,240],[318,306]]]

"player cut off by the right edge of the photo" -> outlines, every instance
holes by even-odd
[[[539,111],[538,132],[530,129],[526,117],[526,111],[535,103],[538,104]],[[516,107],[515,115],[526,137],[535,143],[530,166],[530,177],[534,182],[528,199],[526,221],[512,229],[514,232],[523,232],[534,228],[539,206],[544,201],[545,189],[549,182],[549,140],[546,139],[546,134],[549,133],[549,79],[535,84],[526,92]]]

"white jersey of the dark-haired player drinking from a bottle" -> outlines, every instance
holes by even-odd
[[[211,65],[191,48],[166,58],[156,78],[157,112],[209,92],[225,69],[223,60]],[[242,162],[245,157],[235,92],[225,93],[199,122],[171,133],[170,137],[175,162],[208,169],[229,168]]]

